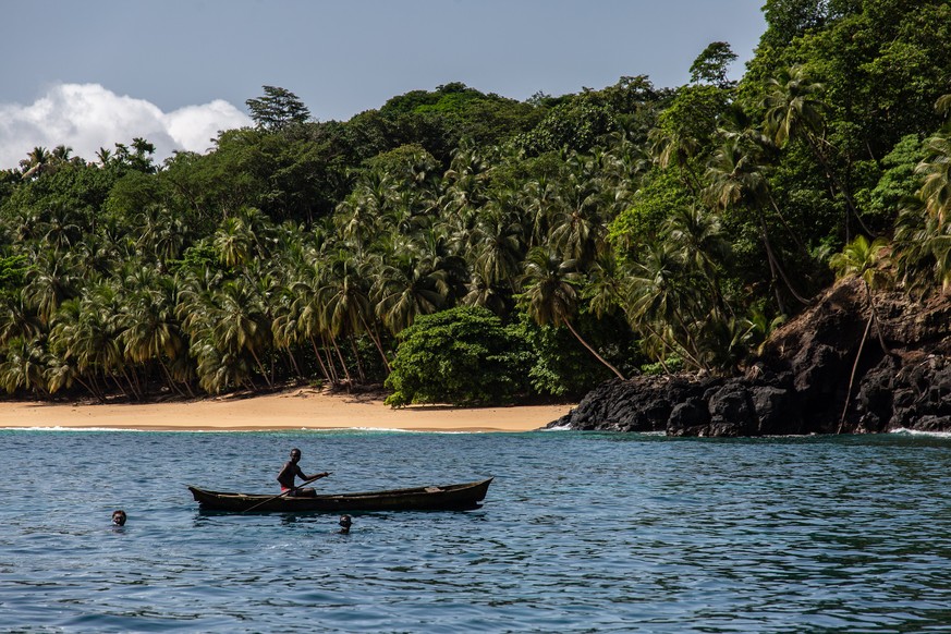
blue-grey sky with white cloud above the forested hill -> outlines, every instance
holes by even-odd
[[[319,121],[462,82],[523,100],[625,75],[690,81],[711,41],[739,78],[764,0],[44,0],[0,4],[0,169],[35,146],[145,137],[162,160],[247,125],[281,86]]]

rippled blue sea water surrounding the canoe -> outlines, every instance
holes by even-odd
[[[203,513],[493,476],[466,512]],[[951,631],[951,439],[0,430],[0,631]],[[129,523],[110,527],[114,509]]]

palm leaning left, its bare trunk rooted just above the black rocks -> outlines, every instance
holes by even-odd
[[[575,271],[574,260],[562,260],[552,248],[536,246],[525,258],[525,273],[522,276],[524,292],[519,297],[519,303],[539,326],[551,324],[554,327],[568,328],[595,358],[614,373],[619,379],[625,380],[624,375],[598,354],[598,351],[585,341],[571,324],[572,317],[577,312],[576,286],[580,283],[581,276]]]

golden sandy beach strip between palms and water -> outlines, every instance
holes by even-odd
[[[109,429],[404,429],[416,431],[529,431],[566,414],[572,405],[393,410],[379,394],[338,394],[294,389],[252,398],[134,404],[0,402],[0,428]]]

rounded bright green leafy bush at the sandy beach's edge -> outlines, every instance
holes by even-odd
[[[485,308],[422,316],[399,337],[387,404],[509,402],[525,393],[527,355]]]

